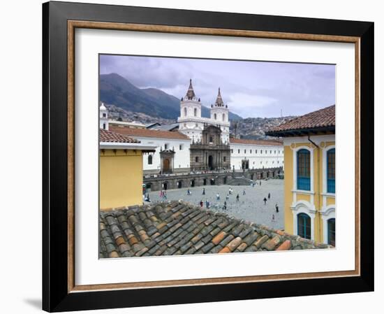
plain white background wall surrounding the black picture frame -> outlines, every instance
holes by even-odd
[[[71,0],[69,0],[71,1]],[[77,2],[84,2],[77,0]],[[17,95],[17,120],[19,125],[29,125],[28,136],[33,141],[23,141],[24,152],[29,154],[28,162],[25,162],[24,154],[4,154],[1,162],[8,166],[2,169],[3,186],[3,208],[15,208],[15,200],[20,199],[20,190],[23,191],[23,204],[27,204],[28,210],[19,210],[13,213],[17,219],[17,228],[22,232],[14,232],[14,224],[3,224],[3,234],[12,234],[13,243],[25,243],[26,234],[35,245],[22,245],[22,254],[8,255],[1,259],[1,295],[3,297],[0,310],[3,313],[41,313],[41,3],[39,0],[3,1],[1,11],[3,14],[0,23],[1,36],[7,48],[0,50],[1,59],[6,62],[2,64],[2,83],[6,92],[2,94],[5,106],[5,116],[15,116],[15,95]],[[381,134],[380,120],[384,116],[384,20],[381,1],[334,1],[323,0],[321,3],[311,1],[175,1],[163,0],[94,0],[87,1],[94,3],[110,3],[133,6],[153,6],[165,8],[183,8],[192,10],[221,10],[228,12],[254,13],[267,15],[290,15],[302,17],[322,17],[346,20],[371,20],[375,22],[375,119],[377,134]],[[346,9],[348,8],[348,9]],[[17,16],[17,23],[15,23]],[[22,40],[21,40],[22,38]],[[26,54],[26,47],[31,49]],[[22,71],[17,71],[22,69]],[[20,85],[15,84],[23,77],[22,93]],[[31,106],[31,104],[33,106]],[[34,121],[34,124],[31,124]],[[3,120],[3,129],[12,129],[13,136],[3,138],[3,147],[9,151],[19,151],[20,141],[17,138],[24,138],[25,129],[15,129],[13,119]],[[379,166],[383,146],[380,145],[381,136],[376,136],[376,169],[375,169],[375,190],[376,204],[382,203],[379,197],[384,190],[384,169]],[[34,165],[34,166],[31,166]],[[15,169],[18,173],[26,176],[20,180],[15,176]],[[384,212],[379,206],[375,208],[376,238],[380,238],[380,224],[384,220]],[[22,219],[17,217],[22,215]],[[259,299],[249,301],[230,301],[220,303],[185,304],[175,306],[157,306],[145,308],[130,308],[94,311],[94,313],[131,313],[144,314],[153,313],[238,313],[254,311],[276,313],[304,313],[307,309],[311,314],[324,314],[342,312],[348,314],[365,313],[372,308],[380,308],[384,294],[384,270],[381,265],[384,263],[384,251],[381,250],[381,241],[375,242],[376,255],[376,292],[335,294],[313,297],[295,297],[283,299]],[[19,252],[19,250],[17,250]],[[14,252],[13,252],[14,253]],[[26,257],[28,266],[26,267]],[[281,262],[281,260],[279,261]]]

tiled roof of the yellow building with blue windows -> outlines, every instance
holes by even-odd
[[[307,115],[295,117],[286,123],[277,127],[268,129],[265,134],[276,135],[283,134],[285,131],[300,131],[308,129],[333,129],[335,127],[335,106],[329,106]]]

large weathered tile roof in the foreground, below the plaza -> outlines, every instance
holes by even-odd
[[[101,258],[332,248],[172,201],[100,212]]]

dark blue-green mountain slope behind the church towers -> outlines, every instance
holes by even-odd
[[[152,117],[176,120],[180,115],[180,100],[156,88],[140,89],[117,73],[100,76],[100,100],[121,109],[144,113]],[[209,117],[209,108],[202,106],[202,117]],[[229,113],[230,120],[242,117]]]

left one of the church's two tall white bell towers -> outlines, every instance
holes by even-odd
[[[201,132],[204,128],[204,119],[201,117],[201,101],[195,95],[192,80],[185,97],[180,101],[179,131],[189,136],[193,143],[200,142]]]

